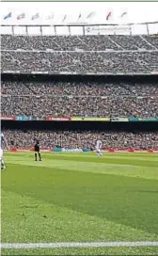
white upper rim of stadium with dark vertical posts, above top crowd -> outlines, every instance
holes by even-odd
[[[158,22],[140,24],[1,24],[1,34],[36,36],[156,35]]]

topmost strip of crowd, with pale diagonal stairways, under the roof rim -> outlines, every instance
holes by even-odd
[[[123,51],[158,50],[156,36],[12,36],[2,35],[2,50]]]

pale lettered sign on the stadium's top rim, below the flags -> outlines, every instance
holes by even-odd
[[[130,25],[94,25],[85,26],[85,35],[130,35]]]

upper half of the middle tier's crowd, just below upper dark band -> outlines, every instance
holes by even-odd
[[[18,79],[17,79],[18,80]],[[9,96],[158,96],[158,84],[129,82],[63,81],[27,82],[1,81],[1,93]]]

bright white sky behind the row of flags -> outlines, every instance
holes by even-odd
[[[1,24],[73,24],[77,21],[127,24],[158,21],[158,2],[3,2],[0,5]],[[11,17],[4,20],[9,12]],[[22,13],[25,13],[25,18],[17,20]],[[37,13],[40,13],[40,17],[32,21],[31,17]],[[93,14],[87,19],[89,13]],[[126,14],[121,18],[122,13]]]

